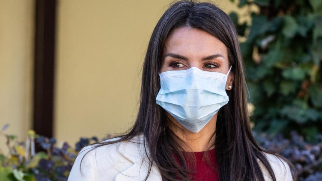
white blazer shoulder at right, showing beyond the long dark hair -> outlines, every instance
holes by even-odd
[[[270,162],[270,166],[274,171],[277,181],[293,181],[289,164],[285,160],[283,160],[283,158],[273,154],[269,154],[265,152],[263,153],[268,159],[268,161]],[[259,163],[260,163],[260,167],[262,168],[265,181],[271,181],[268,170],[260,161]]]

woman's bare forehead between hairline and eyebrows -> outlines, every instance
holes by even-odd
[[[191,27],[177,28],[167,37],[162,54],[164,56],[169,52],[191,58],[214,53],[221,53],[225,59],[227,57],[225,44],[212,34]]]

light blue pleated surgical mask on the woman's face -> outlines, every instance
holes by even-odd
[[[198,133],[228,103],[227,74],[197,67],[159,73],[161,89],[156,103],[186,129]]]

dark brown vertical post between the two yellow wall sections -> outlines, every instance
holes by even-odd
[[[33,129],[53,136],[56,0],[35,1]]]

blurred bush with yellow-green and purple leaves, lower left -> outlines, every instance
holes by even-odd
[[[56,147],[55,138],[37,135],[33,130],[28,132],[26,142],[19,142],[14,135],[5,134],[5,125],[0,135],[5,136],[9,153],[0,149],[1,181],[67,181],[71,167],[81,148],[98,142],[96,137],[80,138],[75,148],[64,142]],[[35,153],[35,144],[43,150]]]

